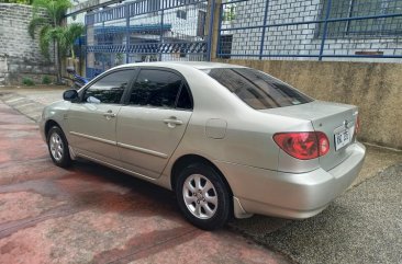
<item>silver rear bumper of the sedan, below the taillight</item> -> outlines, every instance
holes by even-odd
[[[361,170],[366,148],[349,146],[351,154],[340,164],[325,171],[284,173],[233,163],[220,163],[241,211],[292,219],[312,217],[346,191]],[[242,217],[236,211],[237,217]]]

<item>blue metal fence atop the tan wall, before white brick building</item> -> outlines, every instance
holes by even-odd
[[[219,58],[402,58],[402,0],[234,0],[220,9]]]

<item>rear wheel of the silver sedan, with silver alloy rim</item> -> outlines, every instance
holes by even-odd
[[[209,164],[185,167],[176,182],[176,197],[185,218],[203,230],[221,228],[231,216],[231,195]]]

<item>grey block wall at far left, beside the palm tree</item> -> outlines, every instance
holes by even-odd
[[[43,74],[55,71],[42,56],[37,37],[27,33],[31,19],[31,7],[0,3],[0,84],[21,84],[24,77],[41,82]]]

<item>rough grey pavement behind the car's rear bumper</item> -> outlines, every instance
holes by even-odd
[[[397,264],[402,263],[401,219],[402,163],[354,187],[316,217],[250,236],[297,263]]]

